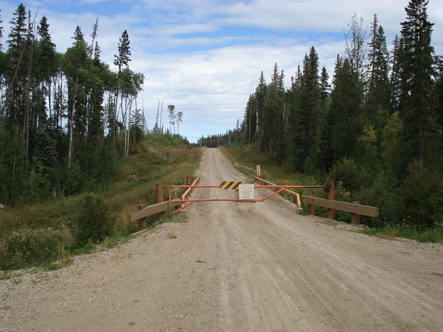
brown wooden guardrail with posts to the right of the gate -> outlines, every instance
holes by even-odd
[[[263,179],[263,175],[255,177],[255,182],[258,184],[263,184],[267,186],[277,186],[277,184],[273,184],[272,182],[266,181]],[[377,218],[379,216],[379,208],[378,207],[369,207],[367,205],[361,205],[360,202],[340,202],[335,200],[334,194],[334,184],[333,181],[329,181],[326,186],[329,189],[328,197],[329,199],[324,198],[316,198],[313,196],[299,196],[298,193],[290,191],[286,189],[285,193],[290,195],[290,202],[293,202],[293,197],[297,200],[297,206],[302,207],[301,202],[309,204],[309,209],[311,214],[315,215],[315,207],[325,207],[328,209],[328,218],[331,220],[336,220],[335,211],[347,211],[352,213],[352,218],[354,220],[354,224],[360,224],[360,216],[370,216]],[[270,189],[272,190],[272,189]],[[287,195],[285,197],[287,199]]]

